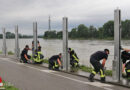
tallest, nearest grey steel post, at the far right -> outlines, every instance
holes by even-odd
[[[114,60],[113,60],[113,80],[120,82],[122,76],[121,61],[121,11],[114,11]]]

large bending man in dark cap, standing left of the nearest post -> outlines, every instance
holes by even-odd
[[[105,66],[106,60],[108,58],[108,54],[109,54],[109,50],[104,49],[104,51],[97,51],[97,52],[95,52],[94,54],[91,55],[90,63],[94,67],[94,70],[92,71],[92,73],[89,76],[89,80],[91,82],[94,81],[94,76],[98,72],[100,72],[101,82],[103,82],[103,83],[105,82],[104,66]],[[100,60],[103,60],[102,64],[100,63]]]

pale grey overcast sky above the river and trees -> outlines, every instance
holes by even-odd
[[[0,33],[2,27],[14,32],[32,34],[32,23],[38,22],[38,33],[48,30],[48,16],[51,28],[62,29],[62,17],[69,19],[69,30],[85,24],[102,26],[114,19],[114,9],[119,8],[122,19],[130,19],[130,0],[0,0]]]

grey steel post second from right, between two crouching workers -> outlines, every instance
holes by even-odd
[[[68,54],[68,18],[63,17],[63,70],[70,70],[70,60]]]

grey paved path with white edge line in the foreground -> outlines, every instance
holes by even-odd
[[[2,57],[0,76],[20,90],[130,90]]]

